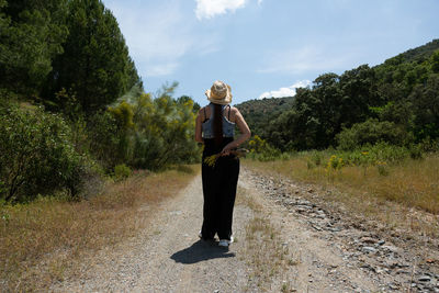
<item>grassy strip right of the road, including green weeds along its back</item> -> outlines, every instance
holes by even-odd
[[[334,185],[439,214],[439,155],[389,145],[352,151],[281,154],[270,161],[246,160],[256,168],[307,183]],[[354,195],[354,194],[352,194]]]

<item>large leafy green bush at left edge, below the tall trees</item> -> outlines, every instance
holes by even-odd
[[[0,199],[33,200],[41,194],[79,191],[85,158],[58,115],[15,104],[0,108]]]

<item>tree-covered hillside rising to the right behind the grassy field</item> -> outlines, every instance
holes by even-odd
[[[308,133],[307,129],[309,127],[314,127],[313,133],[316,134],[327,133],[329,131],[330,134],[329,137],[327,137],[327,143],[324,143],[326,146],[335,143],[335,135],[337,135],[342,127],[350,127],[352,124],[362,123],[368,119],[373,117],[401,125],[401,117],[407,117],[407,115],[399,113],[402,109],[407,109],[410,115],[417,117],[418,121],[415,121],[415,128],[407,128],[407,132],[413,132],[416,139],[420,140],[427,136],[435,138],[439,135],[439,132],[425,132],[426,125],[430,125],[428,127],[431,129],[436,128],[436,121],[439,121],[439,119],[436,119],[435,113],[426,117],[421,115],[419,111],[421,106],[425,105],[417,106],[419,111],[413,110],[413,106],[409,105],[420,101],[419,97],[424,97],[426,92],[437,92],[435,80],[438,79],[438,76],[439,40],[434,40],[423,46],[408,49],[395,57],[389,58],[383,64],[372,68],[362,65],[358,68],[347,70],[340,76],[323,74],[316,78],[311,88],[299,94],[300,97],[250,100],[236,106],[241,111],[252,134],[262,136],[274,145],[275,142],[270,140],[279,139],[270,137],[273,129],[277,129],[277,132],[283,135],[283,132],[288,132],[289,129],[291,132],[292,127],[299,128],[304,131],[300,139],[309,138],[305,135],[305,133]],[[419,97],[415,98],[415,94]],[[329,102],[328,99],[331,101]],[[294,102],[296,100],[301,100],[300,104],[302,105],[302,110],[307,109],[311,112],[302,113],[301,110],[297,109],[299,104]],[[385,108],[394,103],[396,103],[394,106],[395,109]],[[432,100],[427,102],[427,106],[432,104]],[[352,109],[351,106],[357,106],[362,110],[354,114],[354,116],[358,117],[357,120],[353,119],[346,122],[342,117],[346,117],[346,109]],[[376,109],[378,112],[371,111],[371,108]],[[282,113],[293,109],[296,110],[296,113],[302,113],[297,116],[299,121],[291,119],[285,120],[284,117],[282,122],[271,123]],[[328,120],[325,113],[327,113],[329,109],[331,109],[331,117],[340,117],[338,122],[337,119],[335,119],[335,124],[331,126],[331,129],[325,126],[325,122]],[[345,112],[342,113],[340,111]],[[299,126],[294,125],[293,121],[302,124]],[[268,127],[270,123],[274,124],[271,131]],[[288,123],[288,125],[285,123]],[[295,135],[297,135],[297,133],[295,133]],[[290,136],[291,134],[285,134],[284,138],[286,140],[284,143],[290,140]],[[317,136],[318,137],[315,137],[315,139],[323,139],[322,135]],[[312,145],[313,144],[307,147],[317,147]]]

